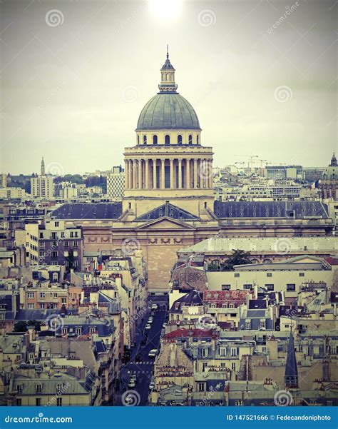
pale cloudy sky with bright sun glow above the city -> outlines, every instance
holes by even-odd
[[[0,171],[123,164],[169,44],[214,166],[337,151],[335,0],[2,0]],[[262,161],[260,161],[262,160]],[[267,161],[265,161],[267,160]]]

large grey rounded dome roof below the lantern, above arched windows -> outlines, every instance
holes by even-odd
[[[176,92],[161,92],[143,107],[136,131],[141,130],[198,130],[198,116],[189,101]]]

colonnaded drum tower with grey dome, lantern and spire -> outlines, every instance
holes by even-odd
[[[159,92],[143,107],[135,146],[126,148],[123,212],[128,220],[170,202],[200,218],[213,209],[212,148],[198,116],[181,96],[167,48]]]

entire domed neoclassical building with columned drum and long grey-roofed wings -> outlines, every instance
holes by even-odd
[[[210,237],[332,235],[319,201],[214,201],[212,148],[203,146],[198,116],[177,89],[167,53],[159,91],[140,112],[135,146],[124,153],[121,203],[64,204],[51,214],[82,227],[83,266],[139,247],[150,293],[163,293],[178,251]]]

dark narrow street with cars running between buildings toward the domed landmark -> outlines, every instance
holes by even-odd
[[[153,323],[150,330],[145,330],[145,324],[148,316],[144,318],[143,324],[139,327],[139,333],[136,335],[135,348],[131,349],[131,360],[127,365],[121,368],[120,373],[120,392],[116,394],[115,405],[124,405],[122,395],[127,390],[136,390],[140,395],[138,405],[146,405],[148,402],[149,383],[153,376],[153,365],[155,358],[149,358],[148,353],[151,349],[160,348],[160,335],[165,322],[167,311],[158,309],[153,311]],[[134,388],[128,388],[130,375],[136,375],[136,385]]]

